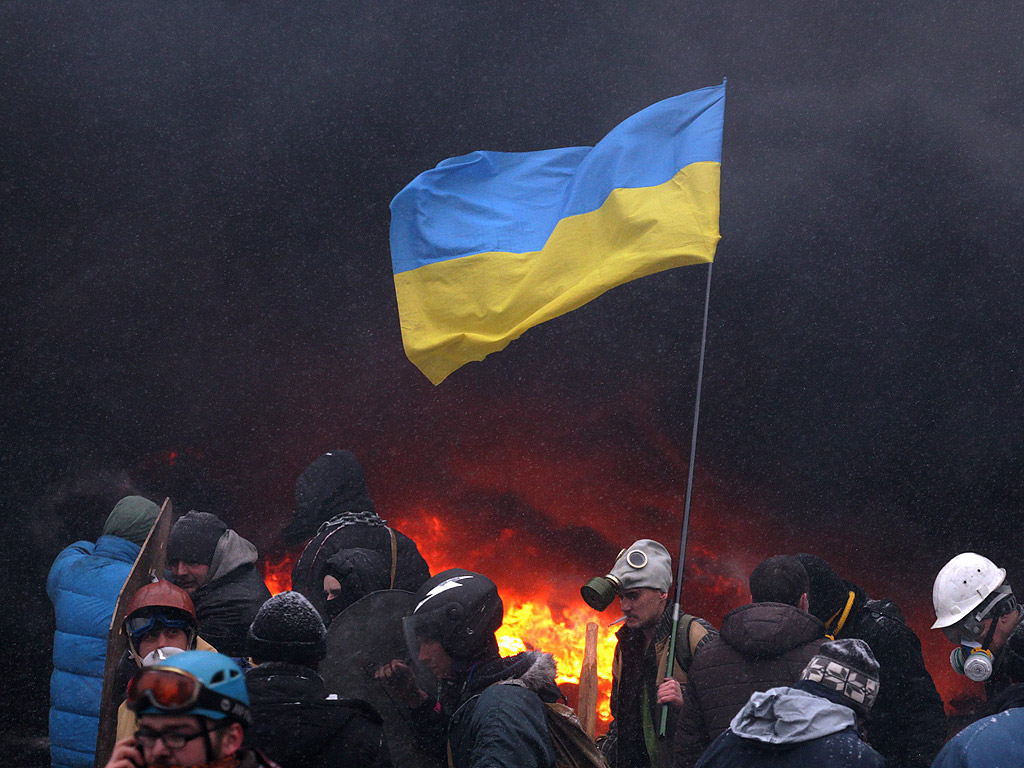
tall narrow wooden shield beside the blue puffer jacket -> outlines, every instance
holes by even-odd
[[[96,762],[106,765],[114,752],[114,739],[118,726],[118,707],[124,699],[124,691],[115,690],[114,678],[121,657],[128,649],[128,639],[121,634],[128,603],[141,587],[164,574],[167,565],[167,536],[171,532],[171,500],[165,499],[160,514],[142,544],[142,549],[131,566],[125,586],[118,595],[114,607],[114,617],[106,635],[106,660],[103,665],[103,696],[99,701],[99,731],[96,734]]]

